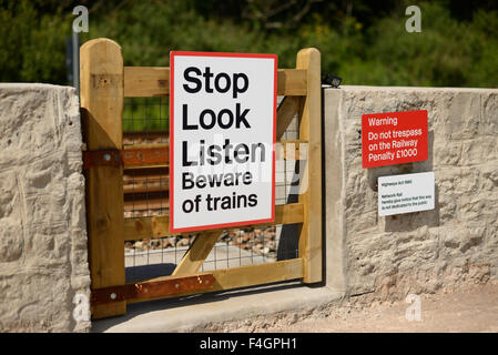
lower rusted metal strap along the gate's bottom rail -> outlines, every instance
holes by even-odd
[[[123,286],[92,290],[92,305],[169,296],[189,291],[213,288],[215,278],[212,274],[175,277],[163,281],[149,281]]]

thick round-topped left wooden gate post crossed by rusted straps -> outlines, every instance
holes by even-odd
[[[122,149],[123,58],[109,39],[80,49],[81,114],[89,150]],[[124,285],[123,168],[87,172],[87,216],[92,288]],[[126,303],[92,305],[92,317],[126,313]]]

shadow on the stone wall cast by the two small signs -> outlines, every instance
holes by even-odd
[[[379,166],[368,169],[368,185],[377,192],[378,178],[398,174],[413,174],[433,171],[434,159],[434,131],[428,132],[428,158],[421,162]],[[430,211],[420,211],[414,213],[405,213],[397,215],[389,215],[385,219],[385,232],[409,232],[415,231],[424,225],[438,226],[439,225],[439,189],[435,186],[435,209]]]

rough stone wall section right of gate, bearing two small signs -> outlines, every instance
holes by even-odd
[[[394,300],[498,277],[498,90],[325,89],[327,285]],[[427,110],[428,160],[362,168],[362,114]],[[434,171],[436,209],[380,217],[378,176]]]

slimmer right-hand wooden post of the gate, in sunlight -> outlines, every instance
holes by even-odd
[[[321,54],[315,48],[297,53],[297,69],[306,69],[307,90],[299,110],[299,140],[308,141],[308,155],[302,174],[304,223],[299,235],[303,282],[322,281],[322,120]],[[299,169],[303,169],[301,165]]]

